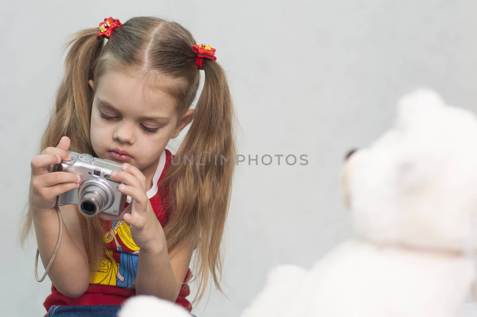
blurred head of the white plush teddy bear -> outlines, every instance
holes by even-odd
[[[401,98],[394,127],[346,159],[341,182],[358,237],[477,249],[477,118],[432,90]]]

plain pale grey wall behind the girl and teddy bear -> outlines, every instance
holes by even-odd
[[[282,158],[280,165],[259,160],[237,168],[224,236],[228,299],[213,291],[193,313],[238,316],[272,266],[310,267],[351,236],[338,187],[343,156],[392,124],[400,95],[424,85],[477,110],[476,11],[474,0],[3,1],[3,315],[46,313],[51,282],[34,278],[34,234],[25,250],[16,237],[68,35],[109,16],[181,23],[217,49],[228,73],[242,128],[239,153],[308,156],[304,166]]]

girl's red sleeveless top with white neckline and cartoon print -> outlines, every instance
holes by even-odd
[[[168,213],[164,210],[161,203],[162,192],[157,184],[166,174],[172,157],[173,155],[168,149],[165,149],[161,154],[156,173],[153,177],[153,184],[156,185],[147,191],[152,208],[163,227],[167,223]],[[129,197],[128,201],[130,201]],[[106,252],[102,264],[97,268],[94,274],[90,276],[88,289],[82,296],[71,298],[64,296],[52,284],[52,294],[46,297],[43,303],[47,311],[52,305],[122,305],[128,297],[136,294],[134,283],[137,272],[139,247],[134,243],[131,237],[131,231],[126,222],[105,221],[104,224]],[[186,296],[190,294],[187,282],[191,277],[192,273],[189,268],[180,289],[179,296],[176,299],[176,304],[185,307],[189,312],[192,311],[192,306],[186,299]]]

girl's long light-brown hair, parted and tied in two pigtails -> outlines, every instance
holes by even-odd
[[[104,38],[98,37],[98,28],[83,29],[65,44],[65,48],[70,45],[71,48],[39,152],[55,147],[62,136],[67,136],[71,139],[70,150],[96,157],[90,139],[94,92],[88,80],[99,78],[107,69],[127,67],[177,79],[175,85],[163,89],[176,97],[179,118],[195,100],[200,73],[192,46],[197,42],[187,29],[156,17],[134,17],[113,32],[104,43]],[[192,272],[195,278],[199,277],[199,282],[192,304],[204,295],[209,275],[224,294],[220,287],[223,263],[220,245],[236,161],[236,117],[226,75],[216,61],[204,58],[202,66],[204,87],[194,120],[176,153],[181,164],[171,164],[160,184],[164,192],[171,193],[164,201],[166,210],[170,211],[164,227],[167,248],[170,250],[182,241],[197,246]],[[212,158],[217,155],[219,159],[223,156],[231,161],[214,163],[205,152],[210,152]],[[200,164],[183,164],[182,158],[186,155],[194,159],[200,156]],[[25,210],[20,232],[22,247],[32,227],[28,202]],[[93,270],[103,257],[104,222],[98,217],[81,216],[81,224]]]

